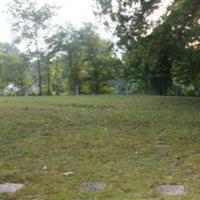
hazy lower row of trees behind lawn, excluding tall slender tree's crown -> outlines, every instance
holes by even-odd
[[[46,45],[48,50],[38,58],[34,52],[20,53],[13,44],[1,44],[1,91],[14,84],[20,95],[99,94],[109,92],[109,81],[119,77],[121,61],[91,24],[78,30],[60,27],[46,38]]]

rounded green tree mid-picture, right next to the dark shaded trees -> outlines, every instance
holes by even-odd
[[[85,53],[85,71],[93,94],[103,92],[108,81],[118,76],[122,63],[117,58],[112,43],[102,39],[95,27],[88,23],[79,31]]]

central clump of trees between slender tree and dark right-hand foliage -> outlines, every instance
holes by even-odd
[[[78,30],[68,25],[47,41],[50,55],[57,54],[64,60],[64,74],[71,93],[105,92],[108,81],[117,77],[122,66],[112,45],[101,39],[91,24]]]

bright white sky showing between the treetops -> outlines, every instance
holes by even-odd
[[[5,6],[10,0],[0,0],[0,41],[11,42],[12,34],[5,14]],[[70,22],[75,26],[81,26],[82,22],[92,22],[98,26],[98,32],[103,38],[112,38],[111,32],[105,30],[103,25],[98,24],[98,20],[93,14],[95,0],[37,0],[39,3],[56,3],[61,8],[58,15],[53,19],[54,24],[64,25]],[[165,10],[172,0],[163,0],[163,8],[154,16],[156,20]]]

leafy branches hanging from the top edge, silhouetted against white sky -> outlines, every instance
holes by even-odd
[[[108,16],[114,22],[115,34],[120,39],[119,44],[126,48],[132,48],[135,42],[147,35],[151,26],[148,17],[160,3],[160,0],[96,1],[98,3],[97,14]],[[109,25],[110,20],[105,21],[105,24]]]

